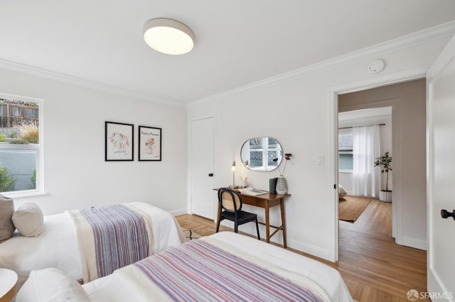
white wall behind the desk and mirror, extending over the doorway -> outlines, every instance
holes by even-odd
[[[215,185],[230,184],[230,163],[232,158],[240,161],[240,148],[245,140],[262,136],[277,138],[284,152],[293,154],[284,173],[292,194],[285,205],[288,245],[334,260],[338,218],[333,189],[337,167],[331,156],[336,148],[332,140],[336,125],[333,87],[358,82],[374,85],[390,78],[400,79],[403,74],[423,76],[448,40],[439,38],[397,47],[392,52],[382,48],[369,52],[367,57],[354,55],[349,60],[335,60],[319,68],[309,67],[191,104],[188,121],[208,114],[216,116]],[[385,69],[380,74],[368,74],[368,62],[378,58],[386,62]],[[323,165],[316,164],[320,155],[325,159]],[[267,189],[267,180],[277,175],[277,171],[242,169],[242,176],[248,176],[252,186],[262,189]],[[250,211],[256,211],[259,219],[264,219],[261,209]],[[277,219],[278,213],[274,211],[272,220]],[[242,229],[254,234],[250,225],[241,226]]]

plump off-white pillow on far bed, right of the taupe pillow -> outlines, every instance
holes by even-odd
[[[23,236],[36,237],[43,233],[43,211],[36,203],[24,201],[18,206],[11,219]]]

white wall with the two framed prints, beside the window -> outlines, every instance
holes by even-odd
[[[186,213],[186,108],[0,69],[0,92],[43,99],[45,214],[145,201]],[[134,162],[105,162],[105,121],[134,124]],[[138,162],[138,125],[162,128],[162,161]],[[18,198],[16,198],[18,201]]]

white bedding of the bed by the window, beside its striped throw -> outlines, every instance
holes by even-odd
[[[149,203],[127,203],[140,209],[152,222],[153,253],[181,245],[185,240],[176,219]],[[24,237],[17,231],[0,244],[0,267],[18,273],[18,284],[33,269],[55,267],[82,280],[82,262],[77,229],[70,212],[44,217],[44,231],[38,237]]]

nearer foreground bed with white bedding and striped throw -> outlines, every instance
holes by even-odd
[[[235,257],[240,257],[236,258],[237,260],[235,260],[235,262],[241,262],[240,259],[243,259],[242,261],[246,260],[247,262],[252,262],[260,268],[265,269],[267,272],[273,272],[274,274],[282,276],[285,279],[284,282],[287,282],[288,284],[291,282],[291,284],[304,286],[316,295],[314,300],[312,298],[305,300],[302,296],[298,296],[298,298],[279,298],[280,301],[353,301],[341,274],[339,274],[336,269],[328,267],[326,264],[317,262],[314,259],[309,259],[308,257],[284,250],[281,247],[269,245],[265,242],[252,239],[251,237],[231,232],[216,233],[208,237],[202,237],[198,240],[186,242],[181,245],[181,247],[176,247],[166,252],[148,257],[136,264],[118,269],[109,276],[84,284],[82,288],[85,290],[85,293],[88,294],[88,297],[90,297],[90,300],[84,301],[140,302],[242,300],[242,298],[233,296],[234,294],[232,291],[226,289],[226,286],[229,286],[230,284],[229,281],[226,281],[223,284],[223,281],[227,279],[228,275],[226,268],[223,268],[220,273],[206,272],[203,276],[198,274],[200,270],[205,269],[204,267],[210,267],[210,264],[205,263],[205,259],[211,256],[205,255],[205,252],[201,251],[195,254],[189,251],[186,246],[199,240],[205,240],[208,244],[215,245],[216,248],[220,248],[224,252],[235,255]],[[183,250],[184,257],[174,257],[172,255],[173,251],[178,249]],[[154,283],[149,276],[146,276],[145,271],[141,270],[138,264],[152,258],[160,257],[164,259],[168,258],[168,263],[173,268],[166,269],[159,265],[151,267],[151,271],[148,273],[153,275],[153,278],[158,279]],[[188,261],[191,262],[189,265],[190,268],[186,268],[181,264],[182,259],[188,259]],[[215,263],[225,264],[228,268],[236,266],[236,264],[226,264],[225,259],[226,258],[220,258],[218,259],[218,262],[215,260]],[[214,266],[218,267],[218,264]],[[194,266],[193,269],[191,269],[191,266]],[[181,276],[181,279],[179,279],[178,276],[173,275],[172,271],[174,269],[176,271],[182,270],[181,273],[183,276]],[[161,274],[161,272],[163,274]],[[237,275],[241,275],[242,272],[247,272],[247,274],[245,274],[245,276],[234,276],[234,283],[232,283],[234,286],[242,285],[240,294],[251,293],[252,295],[255,295],[257,293],[267,292],[264,288],[257,287],[260,283],[259,281],[253,281],[252,287],[249,287],[251,284],[249,285],[247,282],[252,276],[249,267],[247,269],[240,269],[240,271],[237,272]],[[166,276],[166,278],[161,279],[164,276]],[[205,279],[204,281],[203,278],[205,277],[208,277],[208,279]],[[193,280],[197,279],[202,279],[203,288],[200,288],[199,285],[193,282]],[[164,284],[168,285],[168,288],[166,288]],[[271,287],[272,289],[278,289],[275,284],[272,284]],[[27,291],[29,290],[30,289],[27,289]],[[196,293],[193,291],[196,291]],[[282,290],[280,289],[278,292],[282,293]],[[220,296],[216,296],[217,293]],[[205,298],[198,296],[200,294]],[[215,296],[211,296],[212,294]],[[20,293],[19,296],[26,297],[27,293]],[[262,299],[257,296],[247,296],[247,298],[245,298],[245,301],[261,300]],[[19,300],[19,302],[20,301],[21,300]],[[262,301],[276,301],[276,299],[272,298],[272,296],[267,296]]]

